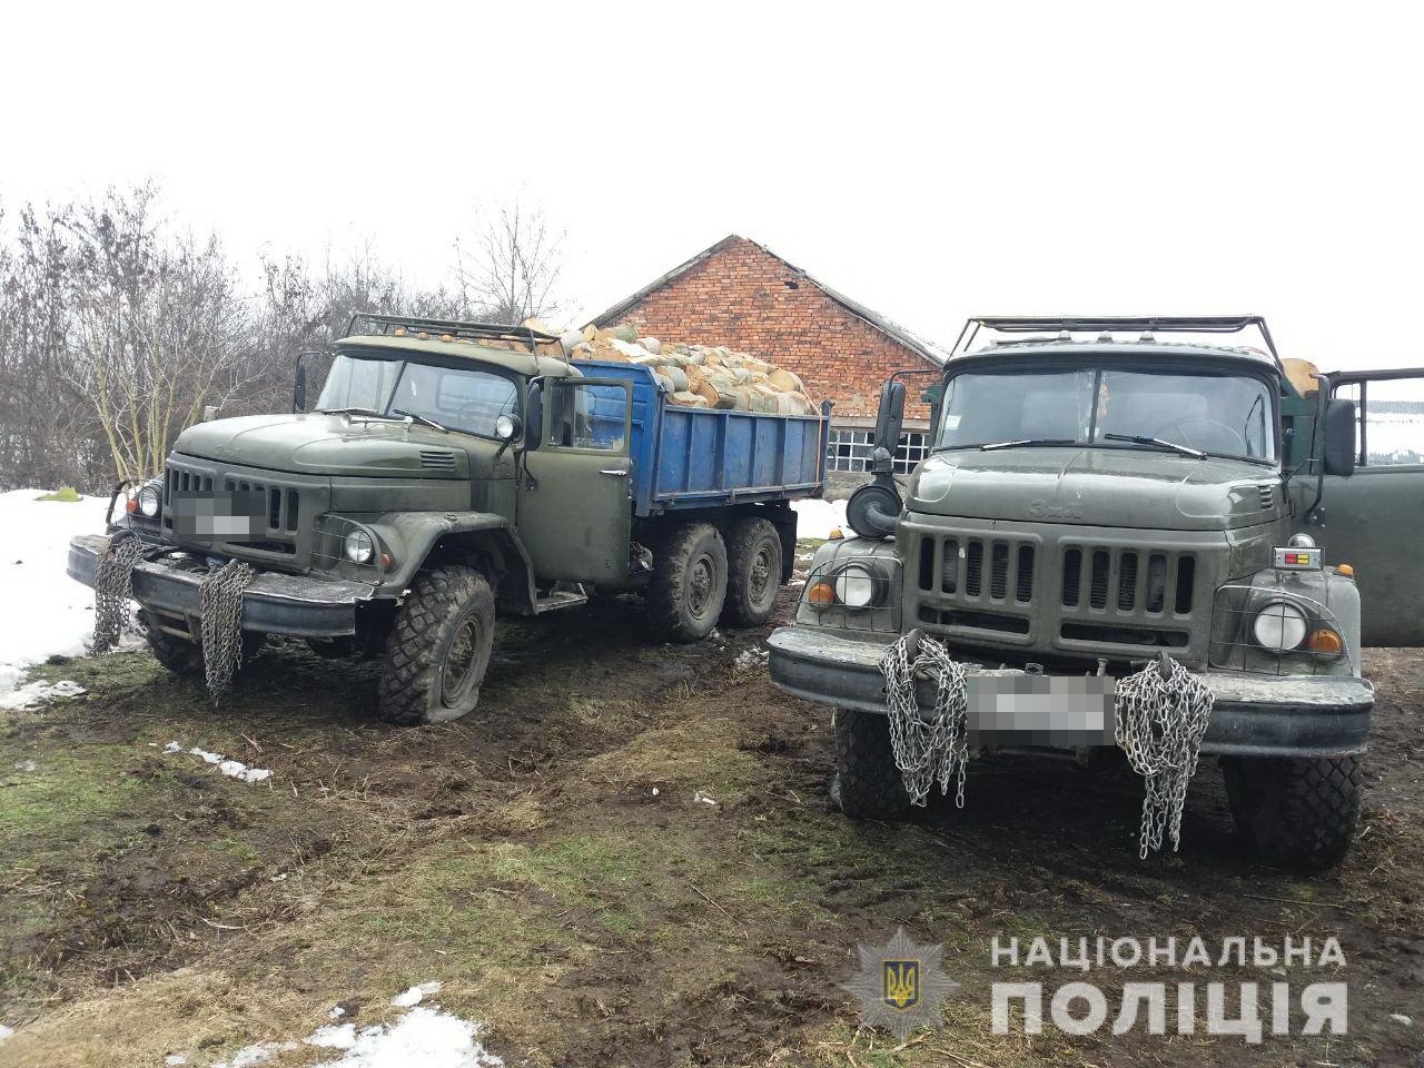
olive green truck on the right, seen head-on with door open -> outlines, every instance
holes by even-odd
[[[1265,350],[1179,336],[1253,328]],[[909,805],[880,669],[901,635],[943,642],[971,692],[1078,692],[1166,652],[1210,689],[1200,750],[1237,827],[1276,862],[1339,862],[1374,703],[1361,645],[1424,644],[1424,370],[1294,377],[1257,316],[971,319],[931,392],[931,453],[903,491],[877,453],[849,504],[860,537],[819,550],[770,637],[773,681],[836,708],[843,810]],[[903,394],[887,383],[877,441]],[[928,721],[936,685],[916,685]],[[1082,701],[1059,696],[1017,726],[980,701],[970,739],[1111,752],[1104,689],[1087,742]]]

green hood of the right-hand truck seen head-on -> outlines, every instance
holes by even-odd
[[[1267,523],[1283,506],[1269,467],[1075,446],[936,453],[906,500],[931,515],[1143,530],[1235,530]]]

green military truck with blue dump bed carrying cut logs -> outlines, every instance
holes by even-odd
[[[71,541],[88,585],[125,561],[165,666],[303,638],[383,658],[379,715],[430,723],[476,706],[497,611],[635,590],[661,641],[770,617],[824,413],[678,407],[651,367],[570,362],[524,328],[359,315],[349,333],[312,412],[299,362],[292,414],[187,429],[105,535]]]

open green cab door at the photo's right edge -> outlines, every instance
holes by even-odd
[[[1364,645],[1424,645],[1424,367],[1329,380],[1356,404],[1354,471],[1324,476],[1324,525],[1307,533],[1354,568]]]

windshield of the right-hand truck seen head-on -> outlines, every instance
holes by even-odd
[[[934,447],[1078,444],[1274,463],[1274,419],[1266,383],[1246,375],[1020,366],[951,377]]]

